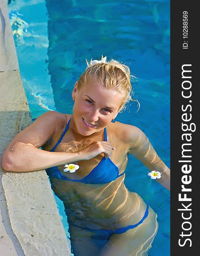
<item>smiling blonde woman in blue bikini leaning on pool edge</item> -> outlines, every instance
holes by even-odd
[[[46,112],[17,134],[3,155],[3,169],[47,169],[65,206],[75,256],[147,255],[157,215],[124,185],[128,155],[157,171],[151,176],[162,174],[156,180],[166,189],[170,170],[139,128],[113,122],[131,99],[129,68],[103,56],[91,61],[72,99],[73,115]]]

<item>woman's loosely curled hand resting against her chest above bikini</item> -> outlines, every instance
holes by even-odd
[[[108,141],[94,141],[80,151],[80,157],[81,160],[89,160],[101,153],[104,153],[104,156],[108,158],[111,157],[112,150],[116,150],[116,148],[112,147]]]

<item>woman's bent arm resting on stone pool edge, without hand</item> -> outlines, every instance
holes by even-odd
[[[80,160],[80,153],[49,152],[39,149],[66,123],[66,116],[48,111],[17,134],[7,146],[2,167],[6,171],[27,172],[47,169]]]

